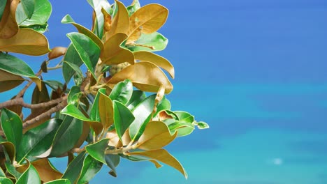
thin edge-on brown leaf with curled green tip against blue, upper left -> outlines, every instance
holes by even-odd
[[[92,31],[90,31],[89,29],[85,28],[85,26],[75,23],[75,21],[73,20],[71,15],[66,15],[64,18],[62,18],[61,23],[73,24],[73,26],[75,26],[75,28],[78,29],[78,32],[85,34],[86,36],[91,38],[94,41],[94,43],[96,43],[96,45],[99,46],[99,48],[101,48],[101,49],[103,48],[103,43],[98,38],[98,36],[96,36],[94,33],[92,33]]]

